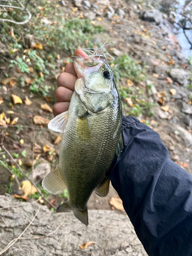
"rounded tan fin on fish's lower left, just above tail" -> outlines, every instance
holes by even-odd
[[[42,186],[54,195],[61,194],[66,189],[66,184],[61,177],[58,164],[55,169],[42,180]]]

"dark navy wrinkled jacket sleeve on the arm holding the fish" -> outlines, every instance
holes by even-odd
[[[123,117],[124,150],[110,179],[150,256],[192,255],[192,176],[170,160],[158,133]]]

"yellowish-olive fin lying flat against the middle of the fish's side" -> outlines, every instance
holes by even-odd
[[[87,113],[82,117],[77,117],[76,134],[81,141],[89,140],[89,123]]]

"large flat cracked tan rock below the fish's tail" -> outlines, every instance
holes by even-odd
[[[127,252],[121,248],[122,244],[129,244],[129,248],[133,252],[130,255],[147,256],[126,215],[120,215],[114,211],[89,210],[89,225],[85,226],[74,217],[73,212],[58,214],[50,211],[47,206],[38,203],[27,204],[9,195],[0,196],[0,206],[6,207],[15,204],[20,207],[10,207],[0,211],[1,249],[5,248],[12,239],[17,238],[27,227],[39,206],[40,211],[23,235],[29,240],[18,240],[11,246],[11,250],[5,252],[7,256],[101,256],[103,249],[104,254],[108,256],[125,256]],[[30,239],[52,232],[61,223],[63,225],[51,236],[42,239]],[[79,246],[88,241],[94,241],[95,244],[86,250],[81,250]]]

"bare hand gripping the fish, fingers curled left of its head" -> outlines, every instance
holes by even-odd
[[[81,49],[77,49],[74,52],[74,56],[88,56]],[[53,106],[53,114],[57,116],[69,109],[70,100],[74,92],[75,81],[77,80],[77,74],[73,67],[73,63],[69,63],[65,72],[61,73],[57,78],[57,89],[54,93],[55,104]]]

